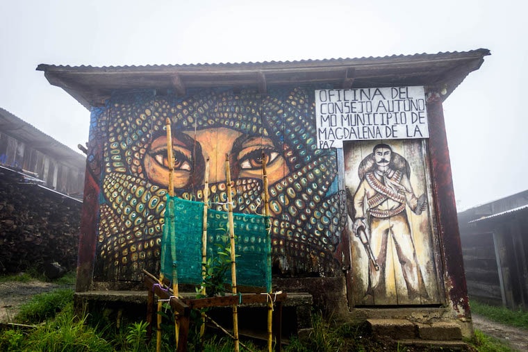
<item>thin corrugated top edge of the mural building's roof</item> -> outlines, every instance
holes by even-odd
[[[211,72],[212,68],[219,68],[222,72],[229,71],[229,69],[242,69],[242,71],[253,71],[253,70],[267,70],[267,69],[300,69],[300,68],[330,68],[330,67],[345,67],[349,65],[388,65],[394,64],[401,60],[415,64],[417,62],[430,62],[438,60],[461,60],[461,59],[475,59],[483,58],[484,56],[490,55],[488,49],[476,49],[472,51],[454,51],[444,53],[420,53],[414,55],[393,55],[383,57],[368,57],[368,58],[337,58],[337,59],[323,59],[323,60],[294,60],[294,61],[264,61],[264,62],[238,62],[238,63],[206,63],[206,64],[181,64],[181,65],[125,65],[125,66],[69,66],[69,65],[48,65],[40,64],[36,68],[37,71],[44,72],[79,72],[79,73],[101,73],[109,74],[113,72],[155,72],[155,71],[176,71],[184,72],[189,70],[195,73],[200,69],[208,69]]]

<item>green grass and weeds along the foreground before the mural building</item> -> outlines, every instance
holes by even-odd
[[[31,314],[28,312],[31,311]],[[196,312],[199,316],[199,312]],[[165,314],[162,351],[174,351],[174,321]],[[76,317],[72,290],[53,290],[34,296],[22,306],[17,321],[33,325],[31,329],[13,328],[0,333],[0,351],[153,351],[156,338],[147,342],[147,323],[134,322],[117,327],[101,321],[90,323],[87,315]],[[45,319],[45,322],[42,322]],[[199,319],[199,317],[197,317]],[[94,319],[95,320],[95,319]],[[196,327],[198,324],[195,324]],[[189,338],[189,351],[233,351],[229,337],[208,334],[199,343],[198,329]],[[294,337],[283,351],[378,351],[381,345],[364,338],[357,327],[330,324],[320,313],[313,315],[313,332],[302,340]],[[265,346],[249,340],[243,342],[251,351],[265,351]]]

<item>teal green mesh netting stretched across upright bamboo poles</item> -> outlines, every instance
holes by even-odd
[[[201,235],[204,203],[167,196],[165,226],[161,240],[161,272],[170,280],[174,266],[178,283],[201,283]],[[238,286],[265,287],[271,290],[271,243],[266,218],[261,215],[233,213],[236,237],[236,281]],[[229,247],[228,213],[208,210],[207,256]],[[220,246],[219,246],[220,245]],[[173,251],[175,249],[175,251]],[[174,260],[174,255],[176,260]],[[225,283],[231,283],[231,268]]]

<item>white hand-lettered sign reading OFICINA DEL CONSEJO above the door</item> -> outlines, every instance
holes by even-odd
[[[317,146],[429,138],[424,87],[315,90]]]

